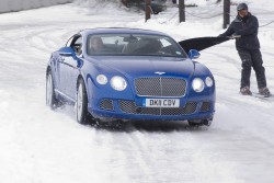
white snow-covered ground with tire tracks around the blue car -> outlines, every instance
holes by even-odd
[[[190,2],[191,0],[186,0]],[[221,13],[216,0],[192,0],[189,13]],[[235,0],[233,2],[239,2]],[[247,0],[260,25],[274,20],[273,0]],[[236,7],[231,5],[232,16]],[[169,8],[147,23],[142,12],[109,1],[81,1],[0,14],[1,183],[272,183],[274,100],[239,94],[241,61],[233,41],[203,50],[214,73],[217,104],[209,128],[185,122],[132,124],[125,129],[79,125],[73,107],[45,105],[45,69],[52,52],[82,28],[127,26],[165,32],[175,39],[216,36],[222,16],[198,19]],[[231,18],[232,19],[232,18]],[[259,37],[267,84],[274,92],[274,23]],[[256,92],[254,72],[251,89]]]

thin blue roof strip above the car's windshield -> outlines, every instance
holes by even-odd
[[[82,34],[152,34],[152,35],[163,35],[168,36],[167,34],[159,32],[159,31],[152,31],[152,30],[142,30],[142,28],[128,28],[128,27],[99,27],[99,28],[88,28],[82,30],[80,33]]]

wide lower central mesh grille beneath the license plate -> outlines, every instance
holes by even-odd
[[[119,101],[119,108],[124,113],[129,114],[147,114],[147,115],[186,115],[195,113],[197,108],[196,102],[187,102],[184,107],[137,107],[134,101]]]

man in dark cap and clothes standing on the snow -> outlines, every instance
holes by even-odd
[[[266,87],[265,69],[263,67],[260,42],[258,38],[259,22],[252,15],[246,3],[237,5],[238,15],[229,25],[227,31],[219,36],[231,36],[236,38],[236,48],[242,60],[240,93],[252,95],[250,91],[251,68],[255,71],[259,93],[265,98],[271,96]]]

